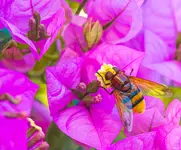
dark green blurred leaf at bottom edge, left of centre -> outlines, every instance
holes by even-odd
[[[54,122],[48,129],[46,141],[50,145],[49,150],[77,150],[80,148],[71,138],[62,133]]]

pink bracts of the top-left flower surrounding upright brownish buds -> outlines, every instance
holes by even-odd
[[[0,22],[4,26],[8,26],[11,30],[13,38],[18,42],[27,43],[37,59],[40,59],[48,50],[50,45],[54,42],[59,30],[61,29],[65,21],[64,8],[60,7],[62,2],[60,0],[46,0],[44,2],[40,0],[27,0],[22,3],[20,0],[7,2],[7,6],[0,10],[1,17]],[[33,11],[37,11],[41,16],[41,24],[43,24],[47,30],[50,38],[47,40],[41,40],[40,42],[31,42],[27,39],[29,19],[32,18]],[[15,27],[17,29],[15,29]],[[15,31],[14,31],[15,30]],[[18,32],[19,33],[18,33]],[[18,33],[18,34],[17,34]],[[40,55],[37,49],[40,48]]]

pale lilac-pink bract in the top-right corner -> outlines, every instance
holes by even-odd
[[[156,33],[170,47],[175,47],[177,28],[170,0],[146,0],[143,5],[143,22],[144,28]]]

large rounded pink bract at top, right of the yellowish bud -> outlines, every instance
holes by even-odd
[[[87,12],[88,17],[99,20],[102,25],[116,19],[103,34],[103,39],[111,44],[130,40],[142,27],[141,11],[135,0],[95,0]]]

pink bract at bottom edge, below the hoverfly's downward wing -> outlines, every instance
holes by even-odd
[[[149,132],[128,137],[112,144],[106,150],[153,150],[155,148],[155,136],[156,132]]]

